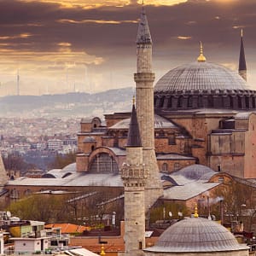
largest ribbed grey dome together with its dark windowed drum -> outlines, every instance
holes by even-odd
[[[238,73],[207,61],[176,67],[154,86],[156,109],[254,109],[255,102],[256,91]]]

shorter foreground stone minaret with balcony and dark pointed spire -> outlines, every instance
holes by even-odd
[[[126,145],[126,163],[121,177],[125,186],[125,256],[144,255],[145,209],[144,185],[147,172],[143,165],[143,147],[133,103]]]

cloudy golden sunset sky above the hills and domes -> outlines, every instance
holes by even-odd
[[[134,86],[137,0],[0,0],[0,96],[98,92]],[[144,0],[156,78],[195,61],[236,70],[243,28],[256,90],[256,0]]]

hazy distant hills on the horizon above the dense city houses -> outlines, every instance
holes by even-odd
[[[134,90],[0,97],[0,117],[81,117],[130,111]]]

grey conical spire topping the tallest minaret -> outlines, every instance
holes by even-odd
[[[148,26],[148,19],[144,9],[144,1],[143,1],[143,10],[141,14],[141,18],[139,21],[139,26],[137,29],[137,44],[152,44],[152,39]]]

